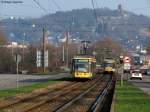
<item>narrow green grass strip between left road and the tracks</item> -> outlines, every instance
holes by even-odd
[[[18,90],[17,90],[17,88],[0,90],[0,98],[14,96],[19,93],[29,93],[35,89],[44,88],[50,84],[56,84],[58,82],[60,82],[60,81],[47,81],[47,82],[32,84],[30,86],[19,87]]]

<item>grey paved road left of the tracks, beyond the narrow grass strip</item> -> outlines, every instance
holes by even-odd
[[[48,80],[57,80],[65,77],[71,77],[70,74],[61,73],[57,75],[14,75],[14,74],[0,74],[0,90],[15,88],[16,80],[19,79],[19,86],[31,85],[38,82],[45,82]]]

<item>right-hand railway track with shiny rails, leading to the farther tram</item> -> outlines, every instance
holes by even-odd
[[[55,112],[99,112],[104,106],[114,81],[110,76],[95,83],[82,94],[59,107]]]

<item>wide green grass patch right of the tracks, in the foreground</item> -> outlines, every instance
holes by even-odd
[[[116,87],[116,112],[149,112],[150,96],[128,82]]]

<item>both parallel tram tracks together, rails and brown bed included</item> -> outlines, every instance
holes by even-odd
[[[2,112],[96,112],[103,108],[101,104],[106,100],[113,83],[110,75],[75,82],[62,89],[3,107]]]

